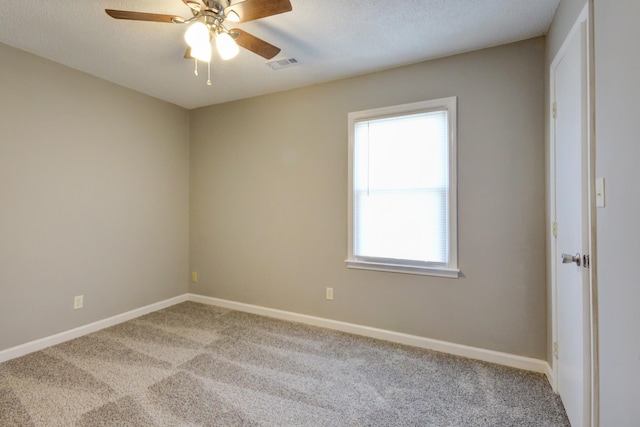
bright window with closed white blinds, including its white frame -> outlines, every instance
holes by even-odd
[[[349,268],[458,277],[456,98],[349,113]]]

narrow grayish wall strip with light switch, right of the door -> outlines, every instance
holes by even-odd
[[[640,3],[595,0],[600,425],[640,420]]]

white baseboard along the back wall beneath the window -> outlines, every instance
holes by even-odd
[[[388,331],[385,329],[372,328],[370,326],[356,325],[353,323],[341,322],[338,320],[325,319],[322,317],[308,316],[305,314],[290,311],[276,310],[257,305],[244,304],[235,301],[228,301],[219,298],[205,297],[202,295],[189,294],[189,301],[203,304],[215,305],[231,310],[244,311],[247,313],[259,314],[261,316],[273,317],[281,320],[304,323],[306,325],[319,326],[350,334],[361,335],[370,338],[377,338],[399,344],[406,344],[413,347],[439,351],[456,356],[468,357],[470,359],[481,360],[498,365],[510,366],[512,368],[545,374],[551,381],[551,367],[545,360],[530,357],[517,356],[499,351],[486,350],[478,347],[470,347],[446,341],[434,340],[431,338],[419,337],[416,335],[403,334],[401,332]]]

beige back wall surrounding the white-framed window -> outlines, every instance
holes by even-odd
[[[544,93],[538,38],[192,111],[191,291],[546,358]],[[347,269],[347,113],[454,95],[463,278]]]

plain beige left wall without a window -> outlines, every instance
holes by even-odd
[[[186,292],[188,111],[1,44],[0,64],[0,350]]]

